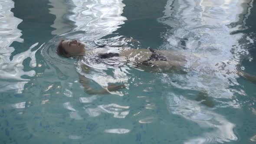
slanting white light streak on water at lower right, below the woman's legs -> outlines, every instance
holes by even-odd
[[[210,132],[203,133],[201,137],[193,137],[187,140],[185,144],[211,144],[237,140],[233,131],[235,124],[229,122],[224,116],[207,110],[197,101],[188,100],[180,95],[169,94],[167,100],[168,109],[171,113],[181,115],[183,118],[197,123],[202,128],[212,128]]]

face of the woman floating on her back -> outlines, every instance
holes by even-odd
[[[62,47],[70,56],[78,56],[85,52],[85,43],[77,40],[64,40]]]

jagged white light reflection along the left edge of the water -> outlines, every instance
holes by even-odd
[[[29,79],[21,78],[22,75],[34,76],[35,71],[31,70],[25,72],[23,70],[23,60],[30,57],[30,67],[36,66],[35,53],[32,51],[38,43],[34,44],[25,52],[21,52],[10,60],[11,53],[14,51],[10,45],[14,42],[23,42],[20,38],[21,30],[17,26],[22,20],[13,16],[10,11],[14,7],[12,0],[0,0],[0,92],[14,91],[21,93],[24,85],[28,83]]]

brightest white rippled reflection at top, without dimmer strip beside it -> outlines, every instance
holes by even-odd
[[[87,39],[94,40],[111,34],[127,20],[123,13],[122,0],[72,0],[75,8],[69,19],[77,26],[74,30],[91,33]],[[87,40],[85,39],[85,40]]]

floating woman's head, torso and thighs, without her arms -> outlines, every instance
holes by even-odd
[[[194,53],[176,52],[169,50],[133,49],[130,47],[108,47],[97,49],[85,48],[85,43],[78,40],[62,40],[57,46],[56,52],[63,57],[85,56],[87,53],[95,55],[100,59],[111,57],[124,58],[126,62],[133,63],[138,67],[150,67],[162,71],[186,74],[184,66],[189,56],[198,57]],[[146,68],[147,69],[147,68]]]

